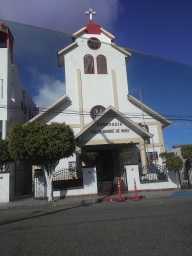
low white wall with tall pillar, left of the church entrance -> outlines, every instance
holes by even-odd
[[[53,197],[97,193],[96,167],[82,168],[84,188],[53,191]]]

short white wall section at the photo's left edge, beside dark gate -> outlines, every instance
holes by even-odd
[[[0,172],[0,202],[9,202],[9,172]]]

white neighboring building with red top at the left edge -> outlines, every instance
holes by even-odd
[[[19,81],[17,64],[13,64],[13,36],[0,22],[0,137],[5,139],[14,121],[25,123],[38,113]]]

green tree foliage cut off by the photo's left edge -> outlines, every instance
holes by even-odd
[[[0,171],[7,170],[8,166],[14,159],[11,158],[8,151],[8,140],[0,139]]]

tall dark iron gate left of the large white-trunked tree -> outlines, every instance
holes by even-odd
[[[16,162],[15,172],[10,175],[10,201],[21,200],[32,194],[32,165]]]

